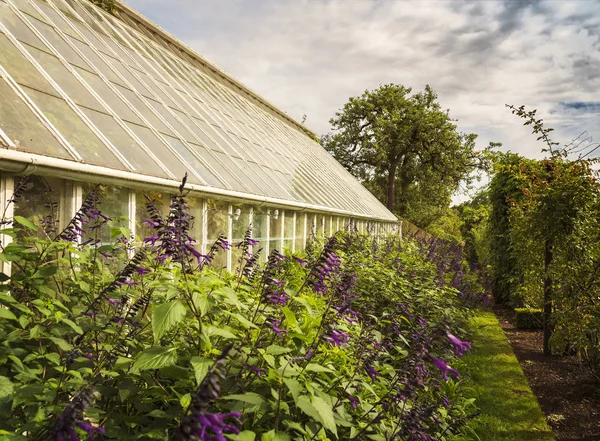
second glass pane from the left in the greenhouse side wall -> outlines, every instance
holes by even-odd
[[[85,182],[82,184],[84,198],[96,187],[95,184]],[[98,230],[90,230],[84,235],[84,241],[99,239],[102,244],[114,243],[115,238],[111,238],[111,228],[124,227],[129,228],[129,190],[114,185],[98,185],[99,210],[104,216],[111,218],[108,225]],[[85,227],[84,227],[85,229]]]

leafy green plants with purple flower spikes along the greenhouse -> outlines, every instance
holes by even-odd
[[[74,409],[116,440],[173,439],[206,414],[239,414],[243,440],[444,439],[473,412],[434,364],[455,360],[468,311],[418,244],[344,233],[259,269],[245,239],[233,275],[207,266],[222,239],[192,248],[183,194],[165,218],[149,204],[160,240],[135,254],[121,226],[94,242],[110,225],[93,201],[52,239],[2,230],[22,238],[0,253],[7,439],[54,439]],[[66,239],[83,225],[90,243]]]

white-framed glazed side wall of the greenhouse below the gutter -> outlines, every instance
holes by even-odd
[[[4,217],[23,216],[38,225],[55,219],[56,230],[60,231],[71,220],[81,206],[87,193],[96,184],[78,182],[51,176],[34,175],[28,189],[16,203],[10,204],[13,191],[19,185],[19,176],[9,173],[1,175],[0,209]],[[100,211],[112,219],[113,227],[127,228],[141,243],[151,236],[144,222],[148,219],[147,197],[155,201],[163,215],[169,211],[170,193],[158,190],[140,190],[120,185],[100,184]],[[252,225],[253,238],[259,241],[261,260],[265,261],[269,252],[302,252],[309,239],[324,239],[340,230],[358,231],[373,236],[382,236],[397,231],[398,224],[373,222],[366,219],[342,217],[335,214],[314,213],[306,210],[292,210],[286,207],[265,207],[263,205],[230,202],[213,197],[199,197],[192,192],[187,197],[190,214],[194,217],[191,236],[197,242],[200,252],[206,253],[222,234],[233,246],[219,253],[213,265],[231,270],[237,266],[241,251],[236,247],[242,242],[248,227]],[[40,229],[40,233],[43,234]],[[6,245],[11,239],[3,236]],[[84,239],[85,240],[85,237]],[[111,241],[110,231],[103,231],[102,243]]]

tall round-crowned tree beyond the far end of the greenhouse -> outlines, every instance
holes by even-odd
[[[431,87],[411,92],[387,84],[350,98],[321,143],[388,209],[426,226],[434,219],[407,214],[450,204],[478,164],[477,136],[457,131]]]

